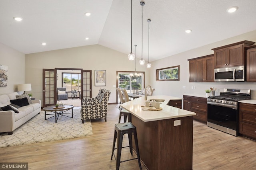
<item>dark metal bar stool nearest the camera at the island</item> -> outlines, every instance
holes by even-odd
[[[122,148],[125,148],[125,147],[122,147],[122,142],[123,142],[123,136],[126,133],[128,134],[128,139],[129,139],[129,146],[127,146],[127,147],[130,148],[131,154],[132,154],[132,134],[134,135],[134,142],[135,142],[135,145],[136,145],[136,152],[137,152],[137,158],[132,158],[132,159],[129,159],[129,160],[138,159],[138,164],[140,166],[140,169],[142,169],[141,163],[140,163],[140,151],[139,151],[139,146],[138,146],[136,127],[134,125],[132,125],[132,123],[130,123],[130,122],[128,122],[128,123],[118,123],[118,124],[115,125],[111,160],[114,156],[114,158],[116,159],[116,170],[119,170],[120,163],[129,161],[129,160],[123,160],[123,161],[120,160]],[[116,139],[117,139],[117,148],[115,148]],[[117,149],[116,156],[114,154],[115,149]]]

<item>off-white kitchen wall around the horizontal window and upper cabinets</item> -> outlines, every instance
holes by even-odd
[[[152,87],[156,88],[154,95],[169,95],[181,97],[183,94],[201,94],[205,95],[206,89],[210,87],[216,87],[216,94],[219,93],[220,88],[243,88],[243,89],[252,89],[252,99],[256,99],[256,83],[249,82],[188,82],[188,61],[187,59],[193,59],[196,57],[201,57],[205,55],[213,54],[214,51],[211,49],[216,47],[221,47],[223,45],[228,45],[236,43],[239,41],[254,41],[256,42],[256,30],[225,39],[223,41],[218,41],[203,47],[185,51],[164,59],[153,61],[152,67],[150,69],[150,84]],[[189,45],[189,44],[184,44]],[[180,65],[180,81],[156,81],[156,69],[165,68],[170,66]],[[183,89],[182,86],[186,86],[186,89]],[[196,86],[195,90],[191,89],[191,86]],[[216,95],[215,94],[215,95]]]

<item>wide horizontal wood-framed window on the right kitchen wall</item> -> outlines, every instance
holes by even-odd
[[[180,66],[157,69],[156,81],[180,81]]]

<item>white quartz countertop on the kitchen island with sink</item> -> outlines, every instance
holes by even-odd
[[[182,98],[172,96],[148,96],[147,99],[164,99],[165,101],[160,104],[160,107],[162,107],[163,109],[160,111],[143,110],[141,106],[145,106],[144,96],[123,103],[121,104],[121,106],[144,122],[196,115],[196,113],[192,111],[187,111],[167,105],[170,100],[182,100]]]

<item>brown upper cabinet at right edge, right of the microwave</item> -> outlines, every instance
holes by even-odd
[[[256,45],[246,47],[246,81],[256,82]]]

